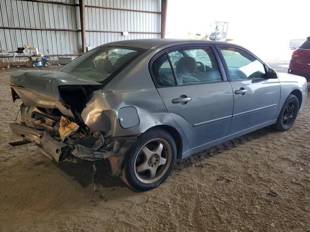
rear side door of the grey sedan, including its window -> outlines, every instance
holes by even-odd
[[[152,73],[163,102],[192,148],[226,136],[233,93],[212,47],[167,50],[152,62]]]

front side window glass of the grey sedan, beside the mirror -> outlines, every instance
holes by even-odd
[[[264,78],[263,64],[244,50],[233,47],[220,47],[232,80]]]

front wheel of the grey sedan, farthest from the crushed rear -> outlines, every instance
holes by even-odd
[[[286,99],[286,101],[284,102],[278,120],[273,125],[273,127],[278,131],[289,130],[296,120],[298,111],[299,111],[298,98],[295,95],[290,94]]]

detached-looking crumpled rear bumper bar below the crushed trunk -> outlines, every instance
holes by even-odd
[[[35,130],[19,123],[10,123],[10,127],[15,135],[35,143],[42,149],[47,157],[56,162],[60,161],[60,157],[62,157],[64,153],[71,150],[68,145],[53,139],[49,133],[45,131]]]

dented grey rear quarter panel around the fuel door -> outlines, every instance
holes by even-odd
[[[119,113],[121,109],[128,107],[136,110],[138,118],[133,119],[133,114],[123,112],[122,123],[132,124],[132,127],[124,128],[120,123]],[[112,137],[140,135],[152,127],[168,125],[179,131],[182,150],[189,149],[186,135],[167,111],[155,88],[132,91],[96,90],[81,117],[91,131],[103,131]],[[133,125],[137,123],[138,125]]]

